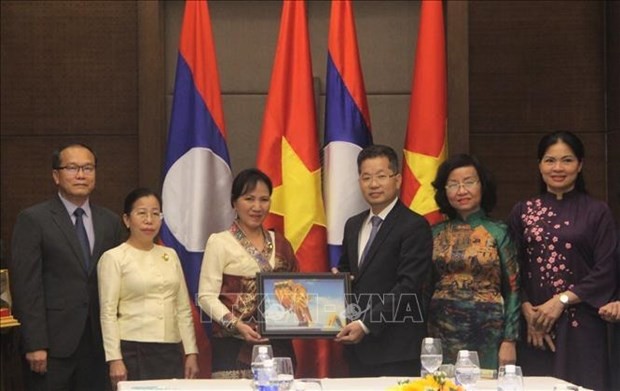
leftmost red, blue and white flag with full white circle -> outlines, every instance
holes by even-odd
[[[209,9],[206,1],[187,1],[164,167],[161,238],[181,258],[193,304],[207,239],[233,220],[231,185]],[[207,323],[200,322],[196,307],[194,315],[200,358],[210,360],[203,351]],[[201,362],[202,377],[209,368]]]

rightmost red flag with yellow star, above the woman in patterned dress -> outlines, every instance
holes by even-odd
[[[401,200],[430,223],[442,220],[431,183],[448,149],[445,46],[442,2],[422,0]]]

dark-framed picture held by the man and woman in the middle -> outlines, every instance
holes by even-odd
[[[258,325],[267,338],[333,338],[346,324],[348,273],[259,273]]]

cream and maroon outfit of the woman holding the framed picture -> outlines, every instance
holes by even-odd
[[[297,259],[281,234],[265,232],[265,249],[258,251],[233,225],[207,241],[200,271],[198,301],[213,319],[212,377],[249,378],[252,345],[236,330],[225,327],[232,319],[256,325],[256,273],[296,272]],[[274,356],[295,358],[290,340],[269,342]]]

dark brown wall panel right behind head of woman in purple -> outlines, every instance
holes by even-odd
[[[493,216],[505,219],[517,201],[538,193],[536,153],[540,134],[474,134],[471,153],[488,167],[497,180],[498,203]],[[605,200],[605,136],[580,133],[586,149],[584,179],[588,192]]]

